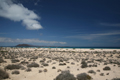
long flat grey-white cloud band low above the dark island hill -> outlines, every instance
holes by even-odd
[[[45,41],[45,40],[39,40],[39,39],[11,39],[11,38],[5,38],[0,37],[0,42],[6,42],[6,43],[47,43],[47,44],[66,44],[66,42],[58,42],[58,41]]]

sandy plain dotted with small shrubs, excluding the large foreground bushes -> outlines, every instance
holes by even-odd
[[[92,80],[120,78],[120,49],[1,48],[0,57],[5,61],[0,63],[0,68],[10,76],[5,80],[54,80],[65,70],[75,77],[87,73]],[[11,60],[19,61],[13,63]],[[22,64],[22,61],[28,63]],[[81,67],[82,61],[87,63],[87,67]],[[27,65],[32,62],[39,64],[39,67],[30,67],[31,71],[27,72]],[[15,69],[20,74],[12,74],[14,70],[5,69],[9,64],[19,64],[25,69]],[[103,70],[106,66],[110,70]],[[44,72],[44,69],[47,71]],[[94,73],[88,73],[89,70]]]

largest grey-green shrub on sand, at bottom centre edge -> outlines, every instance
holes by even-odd
[[[70,73],[70,71],[62,71],[55,80],[76,80],[76,78]]]

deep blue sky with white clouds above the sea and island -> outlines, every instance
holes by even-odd
[[[120,47],[120,0],[0,0],[0,46]]]

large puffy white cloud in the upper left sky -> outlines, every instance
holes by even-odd
[[[0,16],[13,21],[22,21],[28,30],[42,29],[37,21],[40,17],[22,4],[14,4],[11,0],[0,0]]]

